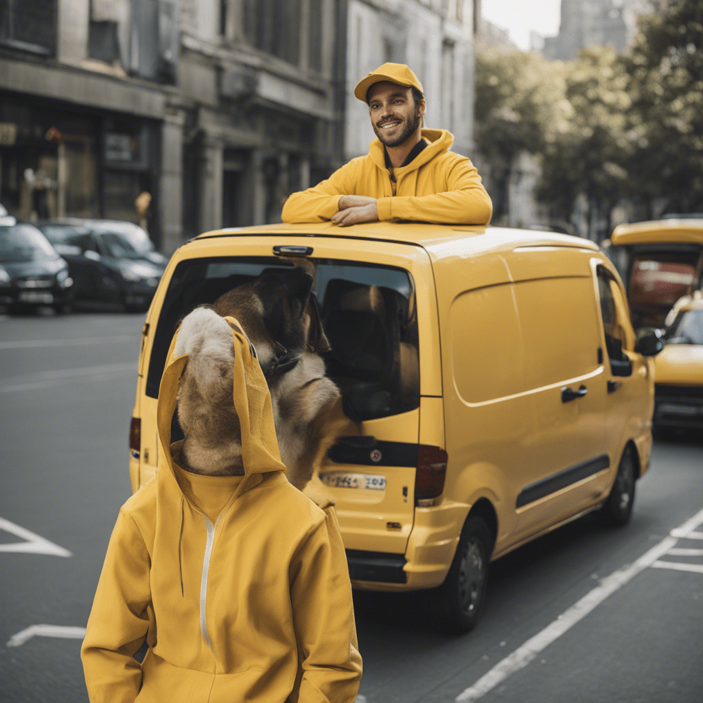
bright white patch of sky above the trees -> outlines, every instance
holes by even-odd
[[[520,49],[529,49],[529,30],[553,36],[559,32],[561,0],[483,0],[482,13],[510,32]]]

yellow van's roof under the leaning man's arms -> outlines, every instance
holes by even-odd
[[[507,227],[439,225],[419,222],[370,222],[349,227],[339,227],[331,222],[315,224],[269,224],[254,227],[233,227],[205,232],[196,239],[259,235],[315,235],[348,239],[372,239],[425,248],[449,243],[452,240],[472,240],[475,252],[512,250],[515,247],[579,247],[598,251],[591,240],[555,232],[541,232]]]

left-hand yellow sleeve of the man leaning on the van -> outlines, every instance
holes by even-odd
[[[326,181],[307,191],[292,193],[283,205],[280,219],[290,224],[324,222],[339,208],[342,195],[356,195],[354,160],[337,169]]]

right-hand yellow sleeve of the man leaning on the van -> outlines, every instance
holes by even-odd
[[[493,203],[476,167],[460,158],[447,177],[447,191],[434,195],[380,198],[378,219],[436,224],[489,224]]]

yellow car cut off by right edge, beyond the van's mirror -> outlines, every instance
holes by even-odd
[[[703,300],[683,304],[654,363],[654,425],[703,428]]]

